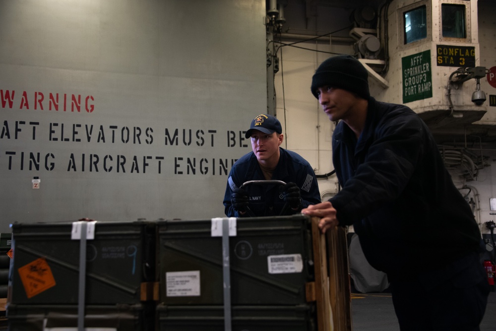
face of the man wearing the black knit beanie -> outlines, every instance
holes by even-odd
[[[333,122],[339,120],[346,122],[355,114],[354,106],[358,97],[352,92],[332,86],[322,86],[317,88],[317,96],[324,113]]]

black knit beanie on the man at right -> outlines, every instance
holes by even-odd
[[[369,99],[369,73],[367,69],[350,55],[331,57],[318,66],[311,79],[311,93],[318,99],[317,88],[331,86],[356,93]]]

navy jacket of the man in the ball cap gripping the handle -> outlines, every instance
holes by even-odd
[[[317,179],[310,163],[297,153],[279,147],[280,158],[272,174],[272,180],[285,183],[293,182],[300,188],[302,207],[320,202]],[[253,152],[242,156],[233,165],[224,196],[225,213],[228,217],[240,217],[231,204],[231,194],[236,188],[248,181],[265,180],[262,170]],[[255,216],[277,216],[281,214],[285,202],[279,191],[280,185],[247,185],[243,189],[248,193],[248,207]],[[300,210],[288,208],[285,215],[299,213]],[[247,214],[244,215],[248,216]]]

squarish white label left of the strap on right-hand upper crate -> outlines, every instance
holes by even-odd
[[[200,271],[175,271],[165,273],[168,297],[200,296]]]

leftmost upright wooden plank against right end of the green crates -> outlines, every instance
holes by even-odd
[[[318,228],[319,218],[311,218],[313,261],[315,271],[315,301],[317,306],[317,330],[332,331],[332,311],[329,302],[329,282],[325,236]]]

